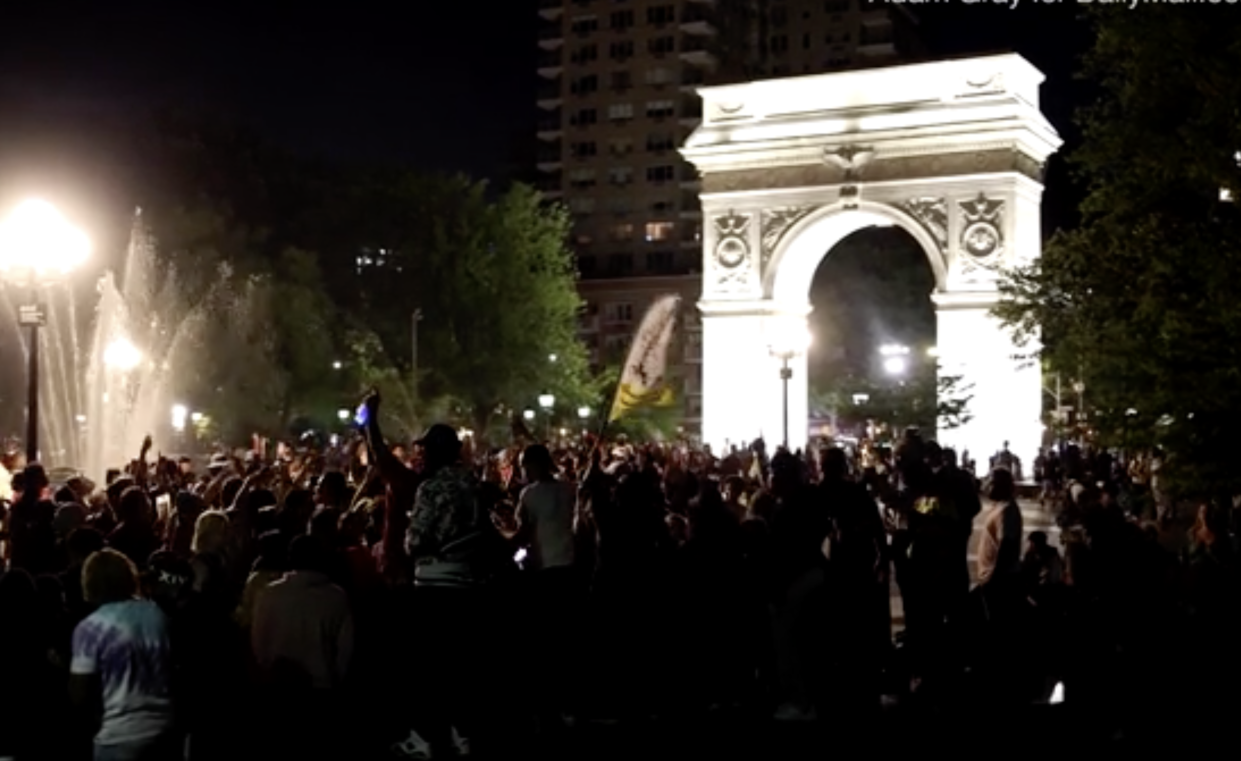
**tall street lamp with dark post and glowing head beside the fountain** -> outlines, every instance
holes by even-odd
[[[30,328],[26,354],[26,461],[38,459],[38,329],[47,314],[37,288],[53,274],[67,274],[91,254],[91,242],[71,227],[55,206],[26,201],[0,223],[0,271],[30,289],[30,303],[17,308],[17,324]]]

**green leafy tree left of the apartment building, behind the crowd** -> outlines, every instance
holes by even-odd
[[[355,202],[367,210],[359,318],[390,377],[408,375],[422,313],[413,399],[452,397],[475,431],[540,394],[587,401],[563,209],[524,185],[491,197],[484,182],[408,174],[372,178]]]

